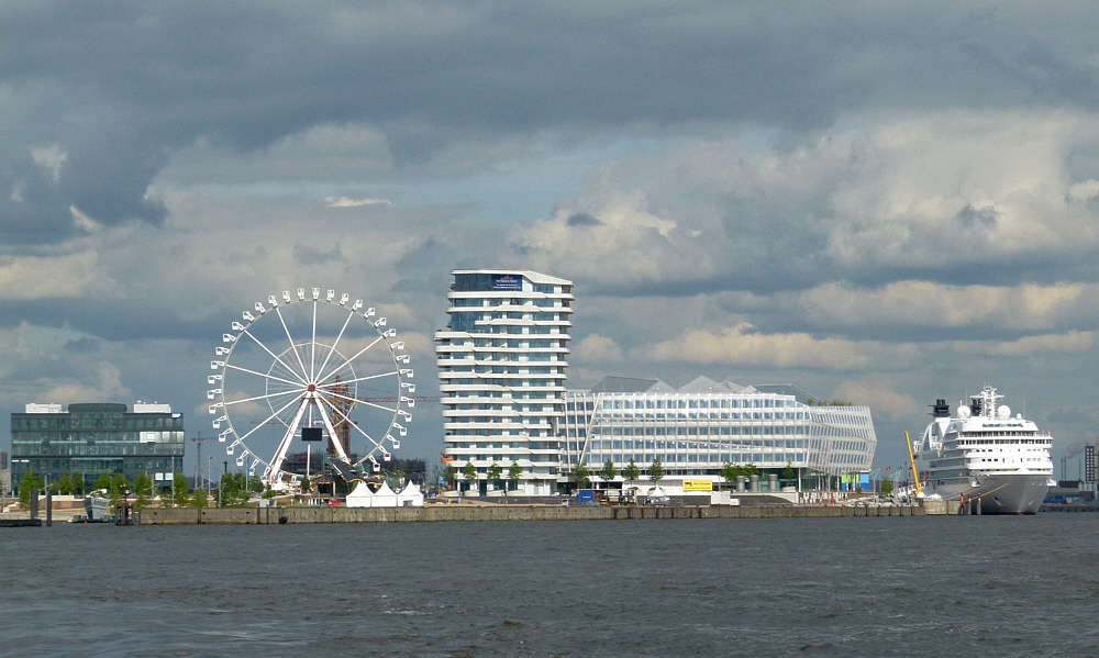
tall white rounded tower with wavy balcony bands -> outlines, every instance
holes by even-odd
[[[487,493],[493,464],[521,470],[519,492],[548,495],[560,475],[573,282],[523,269],[457,269],[447,327],[435,332],[443,457],[473,464]]]

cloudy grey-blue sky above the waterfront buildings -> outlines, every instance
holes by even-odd
[[[0,446],[27,402],[212,432],[221,333],[297,287],[431,395],[456,267],[575,282],[569,386],[793,383],[876,468],[985,383],[1057,477],[1099,434],[1090,3],[35,0],[0,43]]]

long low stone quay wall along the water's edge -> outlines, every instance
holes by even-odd
[[[147,509],[143,525],[279,524],[279,523],[392,523],[437,521],[613,521],[647,518],[839,518],[843,516],[924,516],[915,505],[841,506],[473,506],[430,505],[426,508],[242,508],[242,509]]]

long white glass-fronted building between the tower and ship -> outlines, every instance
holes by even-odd
[[[726,462],[765,471],[846,476],[869,470],[877,446],[867,406],[817,405],[797,387],[743,387],[706,377],[676,389],[658,379],[607,377],[565,393],[563,469],[592,475],[610,460],[669,479],[717,476]],[[799,478],[800,480],[800,478]]]

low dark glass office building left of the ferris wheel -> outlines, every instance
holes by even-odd
[[[80,472],[90,483],[103,471],[131,482],[140,472],[170,487],[184,467],[184,416],[167,404],[27,404],[11,414],[12,487],[26,471],[57,481]],[[163,484],[162,484],[163,483]]]

